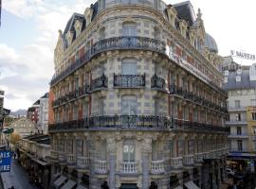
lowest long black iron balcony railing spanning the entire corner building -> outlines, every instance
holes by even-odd
[[[50,132],[69,129],[156,129],[229,133],[229,128],[152,115],[104,115],[49,125]]]

